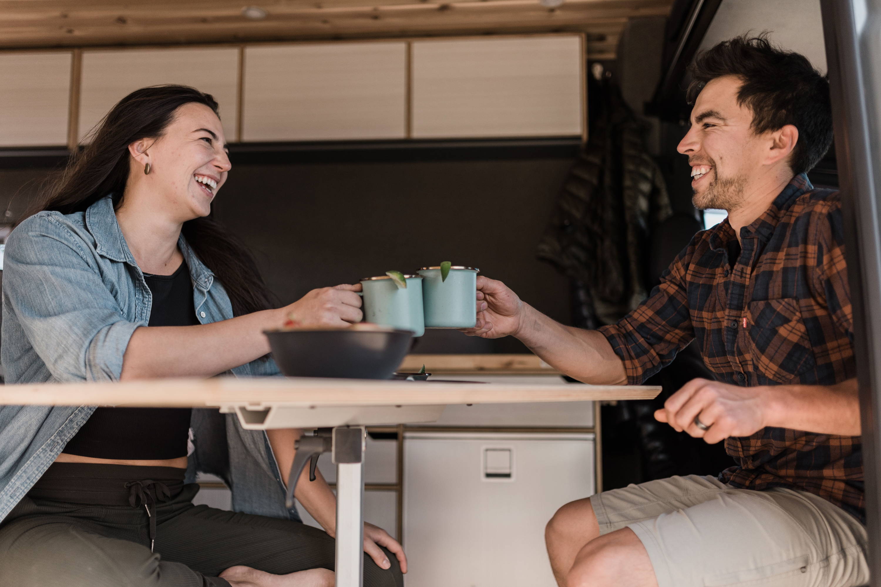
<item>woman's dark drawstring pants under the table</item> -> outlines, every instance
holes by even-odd
[[[229,587],[218,575],[246,565],[285,575],[334,568],[334,540],[312,526],[193,505],[196,484],[153,506],[150,551],[143,506],[62,503],[25,497],[0,525],[4,587]],[[365,587],[402,587],[391,570],[364,557]]]

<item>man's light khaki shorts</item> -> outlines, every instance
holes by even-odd
[[[601,535],[636,533],[659,587],[869,583],[865,527],[804,491],[735,489],[689,475],[612,489],[590,503]]]

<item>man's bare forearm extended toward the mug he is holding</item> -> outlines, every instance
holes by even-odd
[[[594,385],[627,383],[624,363],[603,334],[596,330],[566,327],[523,304],[515,336],[545,363],[569,377]]]

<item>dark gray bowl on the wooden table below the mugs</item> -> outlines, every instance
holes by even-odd
[[[267,330],[288,377],[389,379],[413,341],[409,330]]]

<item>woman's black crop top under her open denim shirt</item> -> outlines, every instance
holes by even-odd
[[[186,262],[174,275],[144,274],[152,293],[152,327],[199,324]],[[64,452],[93,459],[164,460],[187,456],[191,409],[99,407]]]

